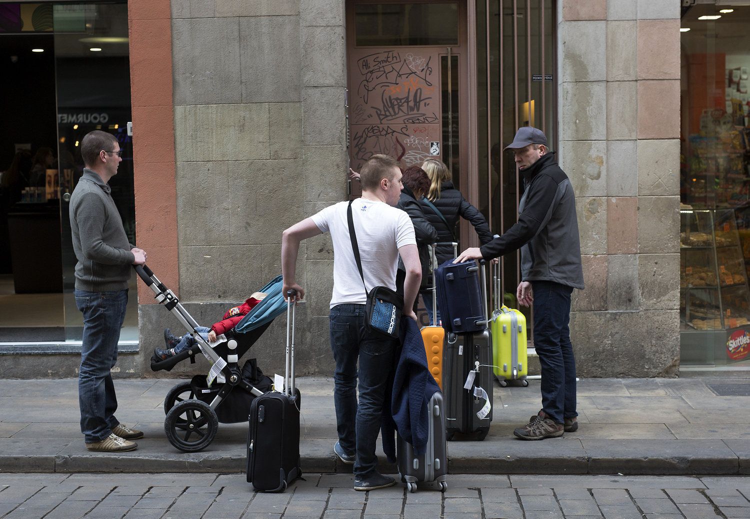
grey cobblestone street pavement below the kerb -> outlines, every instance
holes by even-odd
[[[442,494],[397,484],[353,490],[352,475],[310,474],[254,493],[243,474],[0,474],[3,519],[254,517],[750,517],[750,477],[449,475]]]

